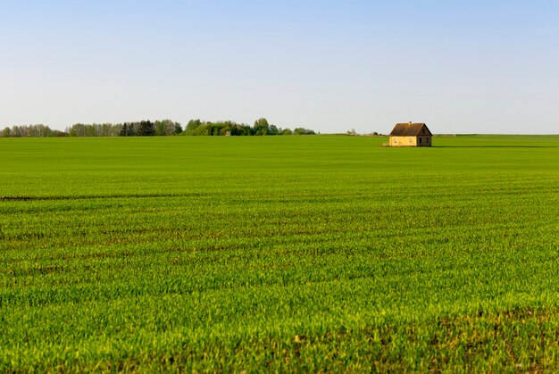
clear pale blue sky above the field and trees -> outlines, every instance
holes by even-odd
[[[0,0],[0,128],[559,133],[556,0]]]

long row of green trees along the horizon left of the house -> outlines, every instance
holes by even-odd
[[[76,123],[64,131],[50,129],[45,125],[6,127],[2,137],[151,137],[151,136],[271,136],[313,135],[312,129],[281,129],[268,123],[265,118],[254,121],[251,127],[235,121],[188,121],[183,130],[179,122],[136,121],[124,123]]]

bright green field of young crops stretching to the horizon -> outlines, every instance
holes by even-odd
[[[559,136],[0,138],[0,371],[559,370]]]

